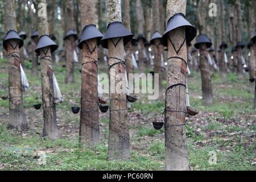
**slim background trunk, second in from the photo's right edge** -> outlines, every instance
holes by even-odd
[[[241,15],[241,2],[240,0],[236,0],[236,9],[237,9],[237,42],[242,41],[242,15]],[[237,76],[241,78],[243,75],[243,67],[242,67],[242,48],[237,48]]]

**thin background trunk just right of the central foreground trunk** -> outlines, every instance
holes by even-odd
[[[125,18],[123,19],[123,25],[127,28],[127,30],[131,31],[131,20],[130,20],[130,1],[123,1],[123,14]],[[132,55],[133,46],[131,45],[131,41],[126,45],[126,69],[127,69],[127,78],[129,79],[129,73],[133,73],[133,59]]]

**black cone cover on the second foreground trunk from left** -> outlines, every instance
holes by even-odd
[[[42,35],[39,38],[38,45],[36,46],[35,52],[40,55],[40,49],[44,47],[51,47],[51,53],[56,51],[56,49],[59,47],[51,38],[49,38],[48,35]]]

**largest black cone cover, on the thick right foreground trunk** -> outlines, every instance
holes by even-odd
[[[162,37],[163,45],[166,47],[168,45],[168,32],[183,26],[185,26],[185,36],[187,43],[190,43],[193,39],[195,39],[197,32],[196,28],[185,19],[185,16],[182,13],[178,13],[168,20],[166,31]]]

